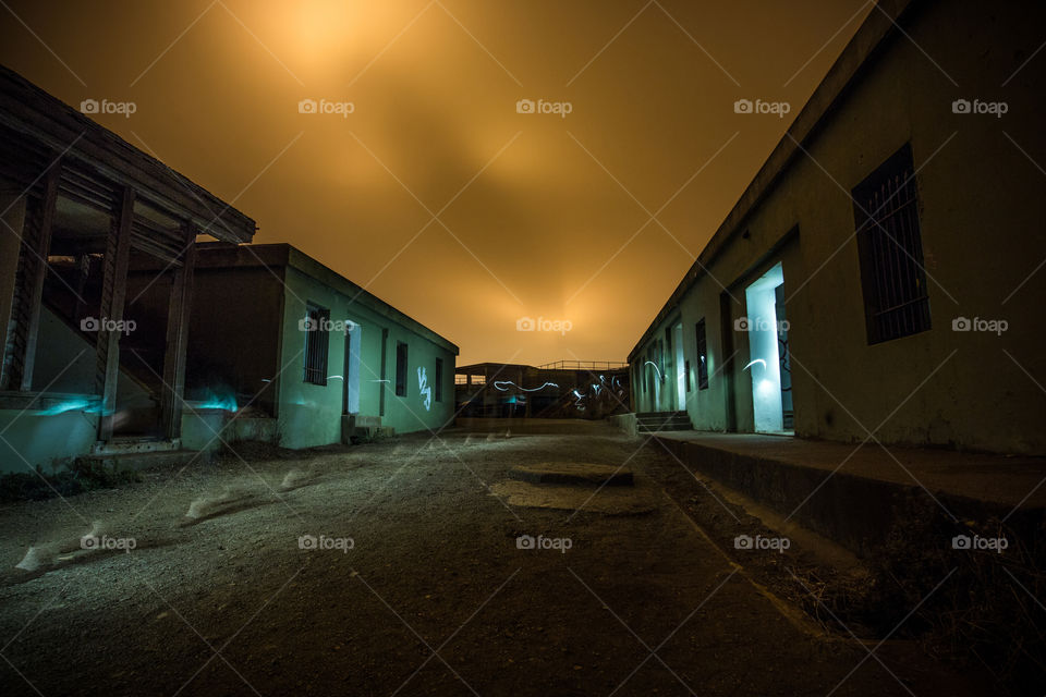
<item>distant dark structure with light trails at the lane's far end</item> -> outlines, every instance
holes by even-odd
[[[477,363],[459,366],[454,382],[463,417],[598,419],[629,411],[625,363]]]

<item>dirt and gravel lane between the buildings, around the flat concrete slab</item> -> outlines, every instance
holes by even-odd
[[[789,619],[673,502],[685,477],[660,490],[679,465],[659,449],[609,427],[429,438],[254,449],[0,508],[0,693],[972,694],[911,647],[869,656]],[[628,463],[660,499],[616,516],[490,493],[548,461]],[[113,548],[15,568],[95,521]]]

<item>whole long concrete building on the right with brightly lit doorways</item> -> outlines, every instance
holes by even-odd
[[[982,9],[869,12],[629,355],[636,412],[1046,453],[1046,62]]]

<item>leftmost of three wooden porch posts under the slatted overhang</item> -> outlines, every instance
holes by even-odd
[[[54,223],[54,207],[58,201],[58,181],[62,175],[61,161],[54,162],[47,171],[44,182],[44,200],[34,218],[26,219],[22,233],[22,265],[25,270],[26,303],[25,343],[23,344],[22,375],[20,389],[28,392],[33,389],[33,368],[36,363],[37,334],[40,329],[40,305],[44,299],[44,279],[47,278],[47,255],[51,247],[51,227]]]

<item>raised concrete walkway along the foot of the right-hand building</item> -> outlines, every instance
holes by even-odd
[[[995,517],[1034,530],[1046,519],[1046,458],[959,453],[781,436],[662,432],[655,437],[689,467],[783,516],[867,554],[929,502],[940,515]]]

